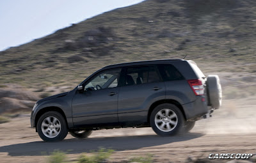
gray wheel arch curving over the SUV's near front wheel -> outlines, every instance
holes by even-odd
[[[66,117],[65,113],[63,112],[63,110],[60,107],[56,107],[56,106],[44,107],[44,108],[40,109],[40,111],[38,111],[38,113],[36,114],[36,117],[35,117],[35,127],[37,126],[37,122],[38,122],[40,116],[42,116],[42,114],[47,113],[49,111],[56,111],[56,112],[60,113],[63,116],[63,118],[65,119],[67,127],[68,127],[67,117]],[[37,128],[36,128],[36,132],[37,132]]]

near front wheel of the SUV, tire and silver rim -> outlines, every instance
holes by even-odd
[[[68,134],[67,123],[56,111],[44,113],[36,125],[38,135],[43,141],[62,141]]]

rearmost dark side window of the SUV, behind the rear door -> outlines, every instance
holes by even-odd
[[[159,72],[163,78],[163,81],[179,81],[184,80],[184,77],[175,68],[175,66],[170,64],[157,65]]]

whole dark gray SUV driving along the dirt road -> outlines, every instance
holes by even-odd
[[[211,116],[221,96],[218,75],[205,77],[193,61],[120,63],[98,70],[72,91],[38,100],[31,127],[44,141],[123,127],[152,127],[159,136],[173,136]]]

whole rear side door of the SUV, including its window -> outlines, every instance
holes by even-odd
[[[118,120],[121,125],[147,122],[148,104],[164,99],[165,86],[155,65],[128,66],[118,96]]]

